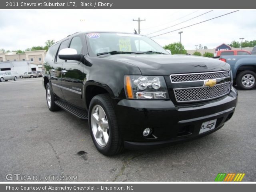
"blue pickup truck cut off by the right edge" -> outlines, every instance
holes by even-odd
[[[243,90],[256,87],[256,55],[220,56],[219,60],[231,66],[233,84]]]

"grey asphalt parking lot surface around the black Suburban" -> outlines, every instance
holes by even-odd
[[[243,181],[256,181],[256,89],[239,90],[234,116],[213,134],[113,157],[96,150],[88,122],[48,110],[41,78],[2,82],[0,98],[0,181],[21,174],[78,176],[84,182],[201,182],[214,181],[218,173],[245,173]]]

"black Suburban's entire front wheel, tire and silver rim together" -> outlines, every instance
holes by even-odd
[[[124,149],[118,128],[114,103],[109,94],[94,96],[89,106],[89,128],[94,145],[106,156],[121,153]]]

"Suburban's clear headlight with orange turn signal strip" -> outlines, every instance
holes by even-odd
[[[128,99],[168,99],[168,92],[162,76],[124,76]]]

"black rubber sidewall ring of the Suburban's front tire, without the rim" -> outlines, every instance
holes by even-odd
[[[100,146],[96,139],[94,138],[93,132],[92,132],[92,122],[91,122],[91,116],[92,116],[92,108],[95,105],[99,105],[103,108],[104,112],[106,113],[107,119],[108,119],[108,129],[109,129],[109,138],[108,138],[108,143],[106,146],[102,147]],[[110,151],[110,148],[112,146],[112,118],[109,115],[109,111],[108,108],[106,107],[106,102],[104,102],[104,100],[99,97],[99,96],[95,96],[94,98],[92,98],[91,102],[90,102],[90,106],[89,106],[89,116],[88,116],[88,123],[89,123],[89,128],[90,128],[90,134],[92,136],[92,140],[94,142],[94,145],[96,146],[96,148],[105,155],[108,155],[108,152]]]

